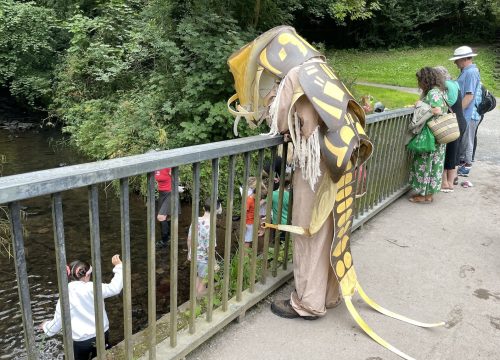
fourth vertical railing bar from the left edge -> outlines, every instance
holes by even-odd
[[[128,178],[120,179],[121,243],[123,266],[123,332],[125,359],[132,359],[132,279],[130,259],[130,195]]]

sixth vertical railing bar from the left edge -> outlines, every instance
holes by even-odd
[[[177,346],[177,282],[179,271],[179,168],[172,168],[170,197],[170,346]]]

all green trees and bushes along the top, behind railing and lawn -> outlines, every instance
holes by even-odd
[[[0,0],[0,84],[49,111],[86,155],[114,158],[232,138],[227,58],[273,26],[335,47],[487,41],[499,9],[499,0]]]

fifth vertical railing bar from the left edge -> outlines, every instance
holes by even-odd
[[[148,254],[148,352],[156,359],[156,248],[155,248],[155,177],[147,175],[147,254]]]

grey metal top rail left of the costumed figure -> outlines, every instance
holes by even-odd
[[[53,194],[147,172],[211,160],[283,143],[283,136],[246,138],[0,177],[0,204]]]

